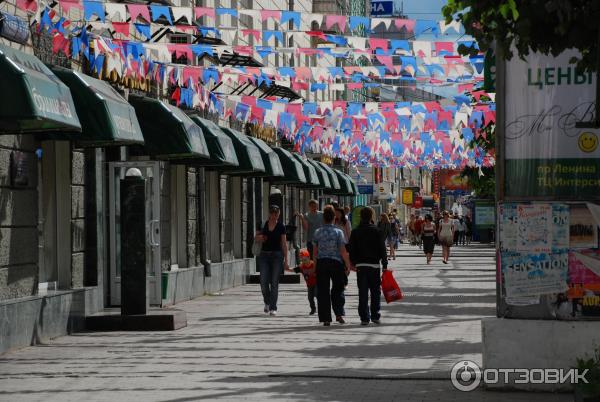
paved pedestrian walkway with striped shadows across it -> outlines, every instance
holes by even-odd
[[[403,245],[393,261],[405,299],[359,325],[355,276],[346,325],[308,316],[306,289],[284,285],[279,316],[257,285],[178,305],[176,332],[84,333],[0,357],[0,401],[563,401],[571,395],[463,393],[459,360],[481,363],[480,319],[495,314],[493,250],[455,248],[432,265]]]

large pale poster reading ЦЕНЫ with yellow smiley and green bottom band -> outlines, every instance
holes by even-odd
[[[600,199],[600,130],[594,119],[595,74],[579,73],[567,51],[506,62],[505,195]]]

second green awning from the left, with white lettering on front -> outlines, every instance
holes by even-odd
[[[82,146],[143,144],[135,109],[104,81],[62,67],[52,71],[73,95],[82,133],[73,139]]]

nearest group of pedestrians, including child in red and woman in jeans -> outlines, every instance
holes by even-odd
[[[361,325],[379,324],[381,269],[387,269],[388,237],[375,225],[375,212],[372,208],[363,208],[360,224],[352,230],[347,215],[349,209],[327,205],[321,212],[316,200],[311,200],[308,207],[307,213],[297,214],[307,236],[307,249],[300,253],[302,262],[298,270],[306,279],[310,314],[315,314],[316,307],[323,325],[330,326],[334,316],[338,323],[344,324],[344,290],[348,274],[355,271]],[[271,207],[269,220],[255,238],[262,244],[258,257],[261,290],[264,311],[270,315],[277,314],[279,275],[283,269],[289,270],[285,228],[277,222],[278,218],[279,208]]]

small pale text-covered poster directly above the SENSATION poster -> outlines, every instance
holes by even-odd
[[[552,248],[552,206],[517,205],[517,248],[519,252],[546,252]]]

